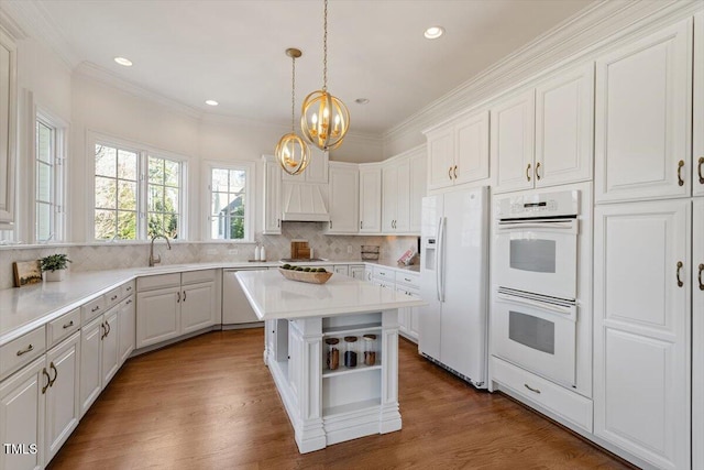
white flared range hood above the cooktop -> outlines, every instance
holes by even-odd
[[[328,186],[311,183],[282,183],[282,220],[329,222]]]

